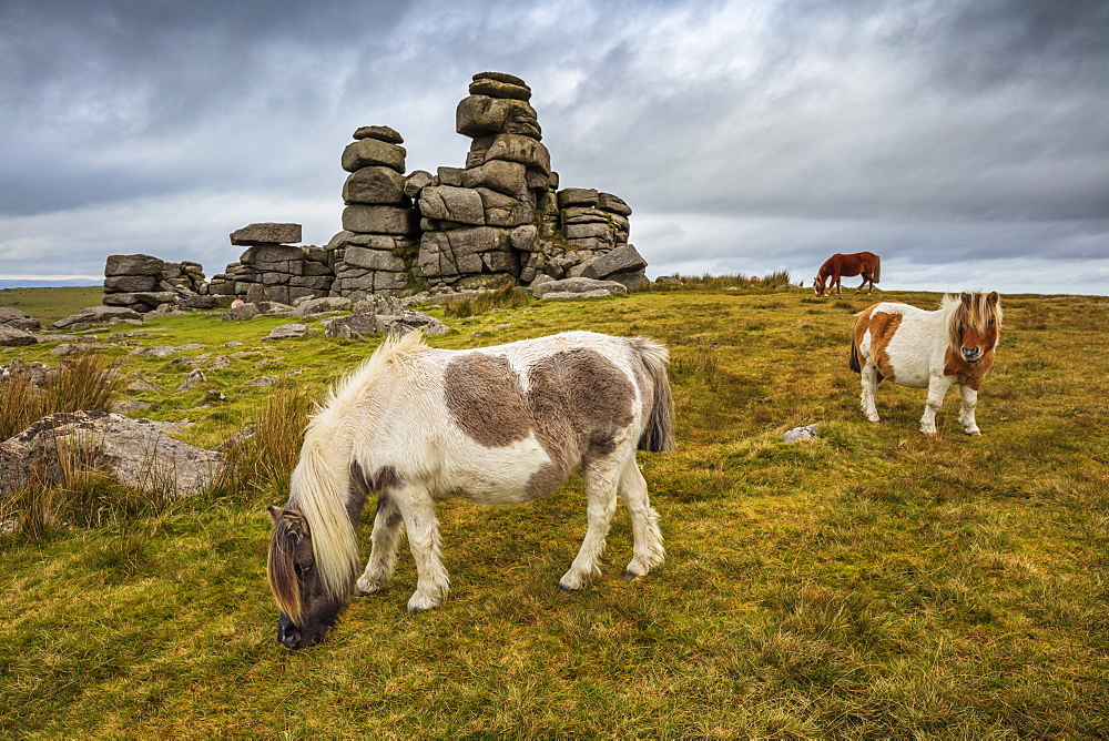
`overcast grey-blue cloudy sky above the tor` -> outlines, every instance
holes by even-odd
[[[325,244],[354,130],[461,166],[487,70],[652,277],[868,250],[887,288],[1109,294],[1102,0],[0,0],[0,278]]]

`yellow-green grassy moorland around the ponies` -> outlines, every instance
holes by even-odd
[[[934,308],[939,296],[881,298]],[[641,581],[620,578],[620,510],[603,578],[556,591],[584,530],[578,479],[519,507],[444,503],[445,603],[405,615],[415,570],[403,550],[386,592],[296,652],[274,639],[265,583],[264,506],[284,498],[281,470],[146,510],[112,516],[103,503],[98,527],[0,536],[0,729],[1106,737],[1109,300],[1003,297],[980,438],[959,432],[954,394],[935,437],[917,432],[922,390],[883,385],[883,422],[865,420],[846,355],[869,302],[708,284],[448,317],[452,331],[429,338],[474,347],[589,328],[670,346],[679,448],[641,454],[668,558]],[[203,347],[100,354],[162,389],[129,392],[151,404],[143,414],[187,418],[183,437],[214,446],[252,419],[303,415],[297,398],[373,349],[319,333],[262,341],[287,321],[166,318],[142,346]],[[0,363],[53,365],[53,345],[0,351]],[[212,369],[218,355],[230,362]],[[207,382],[179,393],[190,364]],[[262,375],[286,383],[244,385]],[[203,404],[212,389],[228,400]],[[781,443],[811,423],[820,440]]]

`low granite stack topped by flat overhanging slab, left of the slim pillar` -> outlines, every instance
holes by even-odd
[[[247,250],[225,273],[212,277],[208,293],[282,304],[326,296],[335,278],[334,254],[289,244],[299,241],[299,224],[264,222],[232,232],[231,243]]]

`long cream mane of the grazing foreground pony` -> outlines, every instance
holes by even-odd
[[[426,347],[419,332],[387,337],[365,363],[332,388],[326,404],[317,408],[305,430],[301,461],[289,483],[288,506],[304,514],[316,570],[333,599],[345,599],[358,573],[358,539],[346,507],[352,435],[345,414],[359,406],[366,386],[386,366],[404,363]]]

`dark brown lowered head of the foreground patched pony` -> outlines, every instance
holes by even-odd
[[[315,646],[337,622],[349,591],[340,596],[327,589],[302,512],[269,507],[269,516],[274,531],[266,571],[281,609],[277,640],[287,648]]]

